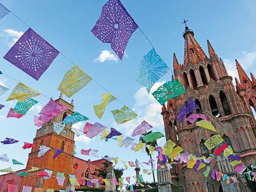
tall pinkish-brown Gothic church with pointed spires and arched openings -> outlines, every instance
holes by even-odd
[[[181,65],[174,54],[174,75],[187,93],[169,99],[167,106],[163,105],[161,114],[166,140],[173,140],[184,151],[197,156],[203,154],[207,157],[213,153],[204,142],[216,132],[198,127],[196,123],[176,120],[185,101],[192,97],[200,108],[193,113],[206,114],[234,153],[241,155],[245,165],[255,164],[256,121],[252,110],[256,109],[256,79],[253,74],[250,74],[250,79],[236,60],[240,80],[236,78],[235,89],[232,77],[228,75],[222,59],[210,42],[207,40],[207,57],[196,41],[193,30],[186,27],[183,37],[184,64]],[[211,167],[227,175],[235,175],[229,160],[223,155],[211,162]],[[227,185],[222,181],[211,181],[209,177],[204,177],[204,170],[194,172],[186,164],[175,165],[171,172],[172,182],[184,185],[185,191],[248,191],[243,182]]]

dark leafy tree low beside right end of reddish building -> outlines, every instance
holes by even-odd
[[[105,162],[102,162],[102,165],[103,166],[100,168],[95,168],[94,173],[92,173],[92,175],[95,175],[95,176],[105,179],[106,175],[109,172],[109,167],[111,166],[111,162],[105,161]],[[115,166],[113,166],[113,170],[116,175],[116,178],[122,177],[124,168],[115,168]],[[101,184],[105,185],[104,182],[102,182]]]

